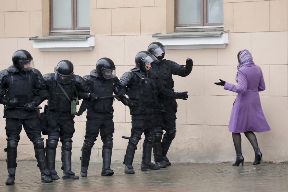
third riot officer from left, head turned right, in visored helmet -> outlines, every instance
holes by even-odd
[[[86,94],[77,115],[87,109],[86,134],[81,155],[81,176],[87,177],[91,149],[96,138],[101,135],[103,142],[102,158],[103,166],[101,176],[112,176],[114,171],[110,169],[113,148],[113,91],[116,91],[115,83],[119,79],[115,75],[115,64],[110,58],[101,58],[96,63],[96,69],[83,78],[87,82],[91,93]]]

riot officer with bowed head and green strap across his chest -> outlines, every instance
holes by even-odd
[[[83,92],[88,92],[89,87],[85,80],[73,74],[73,64],[62,60],[54,68],[55,73],[43,76],[48,90],[48,107],[45,111],[48,139],[46,140],[46,158],[48,168],[53,180],[59,179],[55,171],[55,154],[59,141],[62,143],[62,179],[79,179],[71,170],[72,136],[74,129],[74,115],[76,103]],[[42,131],[43,132],[43,131]]]

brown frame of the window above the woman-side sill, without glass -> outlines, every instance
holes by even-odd
[[[223,30],[223,23],[207,23],[207,0],[200,0],[201,12],[200,12],[200,23],[198,24],[178,24],[179,22],[179,11],[178,3],[179,0],[174,0],[174,32],[193,32],[193,31],[221,31]],[[211,27],[209,27],[211,26]],[[217,26],[217,27],[216,27]],[[222,26],[222,27],[218,27]],[[191,27],[186,29],[177,29],[177,27]],[[199,28],[197,28],[199,27]]]

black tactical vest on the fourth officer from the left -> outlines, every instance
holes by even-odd
[[[155,105],[157,101],[155,80],[142,76],[140,71],[132,72],[136,74],[136,83],[129,86],[129,99],[137,100],[146,106]]]

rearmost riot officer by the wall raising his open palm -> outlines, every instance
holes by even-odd
[[[191,73],[193,61],[190,58],[186,59],[186,65],[179,65],[174,61],[164,59],[167,49],[159,42],[153,42],[148,46],[148,51],[152,53],[158,60],[158,63],[152,64],[152,73],[157,76],[162,85],[169,90],[173,90],[174,81],[172,75],[185,77]],[[176,112],[177,102],[175,98],[159,94],[157,101],[157,109],[155,112],[156,126],[155,126],[155,141],[153,143],[153,153],[155,164],[161,167],[171,165],[167,158],[168,149],[172,140],[176,135]],[[163,110],[165,112],[160,112]],[[162,134],[163,136],[162,140]],[[162,143],[161,143],[162,140]]]

